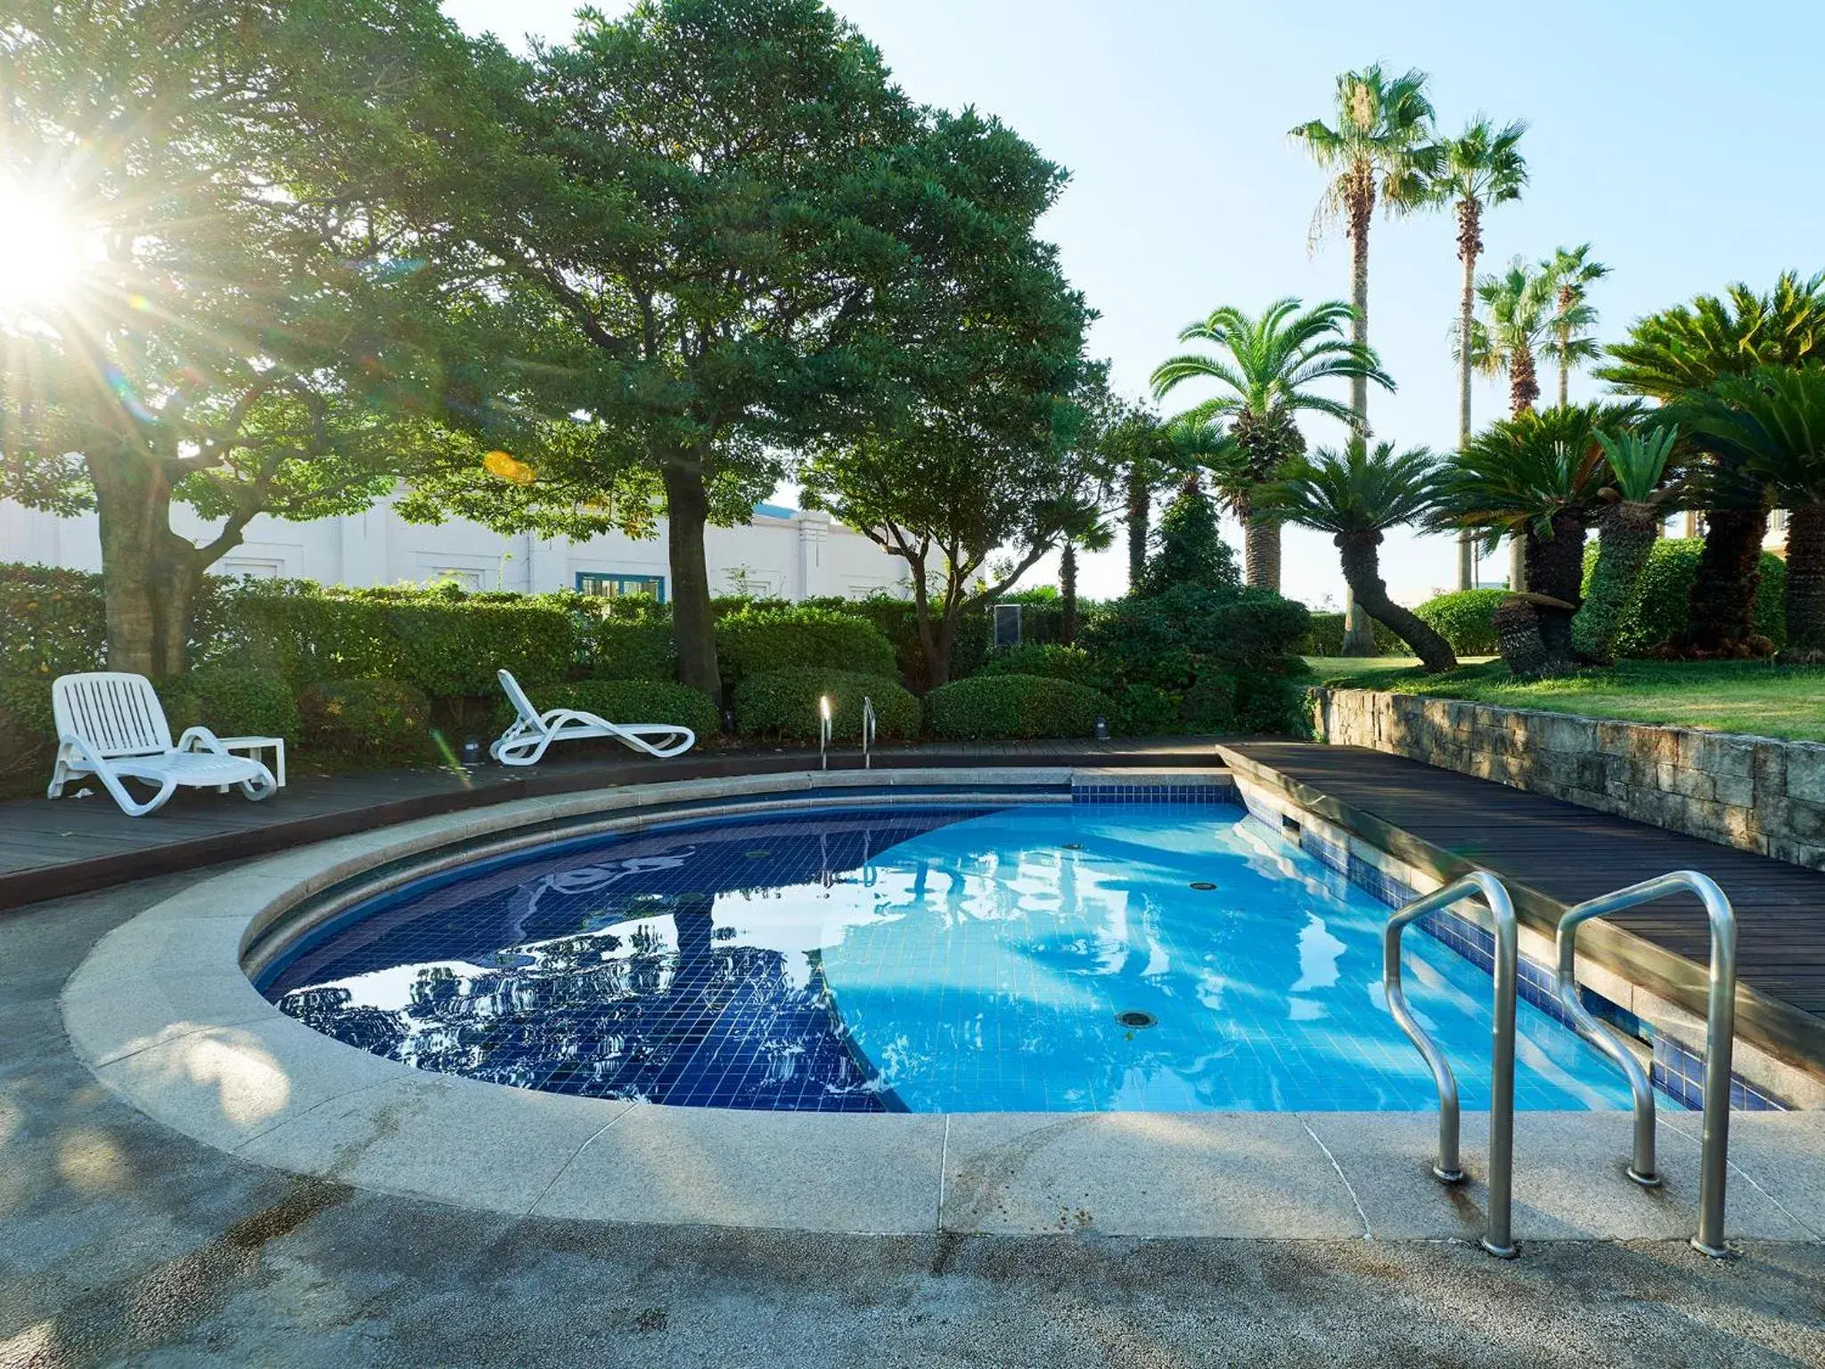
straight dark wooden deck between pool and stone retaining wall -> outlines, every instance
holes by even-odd
[[[1360,747],[1250,741],[1225,743],[1225,750],[1329,796],[1343,816],[1352,810],[1367,820],[1356,827],[1385,823],[1559,905],[1668,871],[1703,871],[1736,909],[1739,980],[1825,1019],[1825,874],[1818,871]],[[1371,831],[1360,834],[1376,840]],[[1710,933],[1694,896],[1608,922],[1692,966],[1710,960]]]

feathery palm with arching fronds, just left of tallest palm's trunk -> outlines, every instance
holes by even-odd
[[[1228,356],[1183,352],[1153,371],[1153,394],[1164,396],[1186,380],[1214,380],[1223,392],[1183,414],[1199,425],[1228,418],[1228,440],[1241,456],[1246,478],[1228,491],[1230,507],[1243,520],[1248,584],[1279,590],[1279,518],[1254,507],[1252,489],[1274,480],[1285,464],[1305,451],[1296,414],[1329,414],[1354,425],[1354,414],[1318,385],[1349,380],[1392,391],[1376,354],[1343,338],[1349,305],[1332,301],[1303,308],[1294,298],[1276,299],[1259,316],[1225,305],[1179,334],[1179,341],[1208,341]]]

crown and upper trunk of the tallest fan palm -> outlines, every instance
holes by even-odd
[[[1336,128],[1314,119],[1292,130],[1312,159],[1332,172],[1314,228],[1341,217],[1350,241],[1350,341],[1369,347],[1369,221],[1380,199],[1383,212],[1402,214],[1427,203],[1427,177],[1438,166],[1433,146],[1433,104],[1427,75],[1389,77],[1382,64],[1338,77]],[[1369,431],[1369,378],[1350,380],[1356,431]]]

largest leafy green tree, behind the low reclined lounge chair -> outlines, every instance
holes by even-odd
[[[706,524],[905,391],[902,345],[954,338],[958,234],[1000,246],[1002,201],[1049,203],[1058,172],[989,120],[923,115],[818,0],[582,11],[491,89],[516,146],[453,148],[431,208],[495,265],[489,308],[522,340],[489,376],[504,407],[591,433],[491,522],[599,531],[657,491],[679,679],[717,697]]]

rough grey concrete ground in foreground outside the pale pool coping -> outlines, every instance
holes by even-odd
[[[1825,1250],[810,1236],[485,1216],[119,1103],[57,993],[182,876],[0,922],[0,1365],[1820,1364]]]

